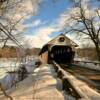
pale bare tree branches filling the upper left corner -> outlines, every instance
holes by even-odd
[[[19,29],[16,26],[21,25],[20,22],[26,16],[35,14],[25,10],[27,9],[24,6],[25,2],[27,0],[0,0],[0,43],[3,44],[3,47],[5,47],[9,40],[16,41],[17,45],[19,44],[16,36],[20,37],[22,32],[18,32]],[[34,5],[37,3],[36,0],[30,0],[30,2],[34,3]]]

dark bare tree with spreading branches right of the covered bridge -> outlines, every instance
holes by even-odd
[[[97,57],[98,57],[98,60],[100,61],[100,23],[99,23],[100,13],[99,13],[99,10],[94,11],[95,15],[89,14],[90,10],[88,8],[85,9],[82,6],[81,1],[77,8],[79,12],[71,15],[71,19],[73,19],[73,21],[75,21],[76,23],[73,26],[70,26],[71,28],[68,32],[73,31],[79,34],[87,35],[88,38],[90,38],[91,41],[94,43],[95,49],[97,52]]]

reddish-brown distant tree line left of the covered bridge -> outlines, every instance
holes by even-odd
[[[25,49],[26,56],[38,55],[40,52],[39,48]],[[21,57],[21,52],[18,47],[5,46],[3,49],[0,48],[0,58],[16,58]]]

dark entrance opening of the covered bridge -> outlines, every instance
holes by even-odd
[[[57,63],[71,63],[74,58],[74,52],[70,46],[54,46],[50,52],[50,59]]]

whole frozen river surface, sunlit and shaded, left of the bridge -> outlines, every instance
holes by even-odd
[[[17,73],[7,73],[8,71],[14,71],[23,66],[28,73],[32,73],[35,69],[35,62],[38,59],[28,59],[25,62],[18,62],[16,59],[0,59],[0,83],[4,89],[9,89],[13,82],[18,82],[19,77]]]

